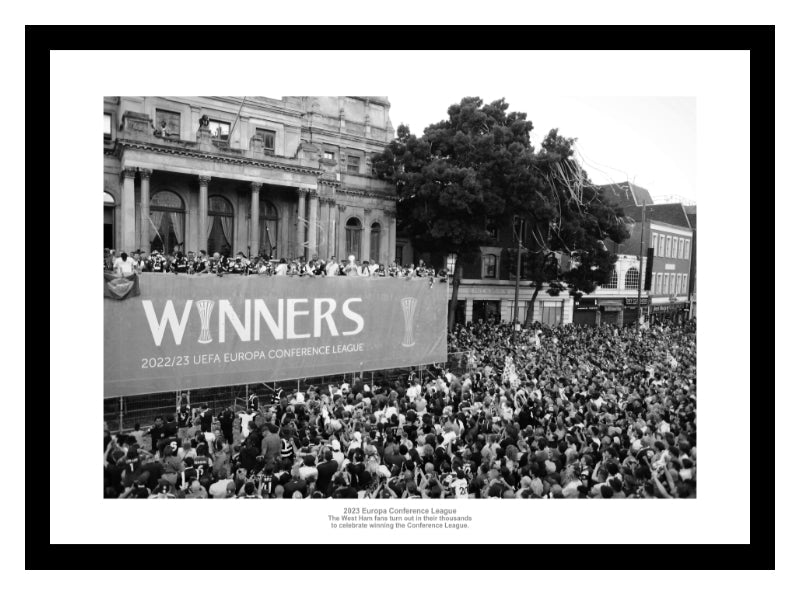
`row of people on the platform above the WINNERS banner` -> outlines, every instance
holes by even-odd
[[[350,255],[346,260],[337,260],[331,256],[328,260],[313,256],[305,260],[300,258],[286,259],[260,255],[247,258],[243,252],[236,256],[224,256],[219,252],[209,255],[205,250],[198,254],[194,252],[175,252],[161,254],[153,250],[149,255],[142,250],[135,250],[128,254],[122,252],[117,256],[113,250],[105,248],[103,268],[117,276],[128,276],[133,273],[174,273],[178,274],[213,274],[223,275],[285,275],[299,277],[439,277],[446,278],[447,272],[436,269],[419,261],[413,264],[400,265],[396,262],[388,266],[377,263],[375,260],[364,260],[360,264],[355,256]]]

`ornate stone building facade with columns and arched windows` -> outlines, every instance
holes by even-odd
[[[372,158],[386,97],[106,97],[104,242],[271,257],[396,253]]]

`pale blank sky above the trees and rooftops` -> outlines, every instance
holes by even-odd
[[[481,90],[469,95],[485,103],[505,97],[509,111],[521,111],[533,123],[538,148],[551,128],[577,138],[577,157],[596,184],[630,180],[658,201],[696,204],[696,102],[694,97],[592,97],[531,91],[510,94]],[[395,129],[405,123],[421,135],[425,127],[447,118],[447,108],[462,94],[446,89],[389,95]]]

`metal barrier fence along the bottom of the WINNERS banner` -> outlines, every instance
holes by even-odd
[[[235,410],[244,409],[248,396],[254,393],[258,395],[260,402],[263,403],[280,389],[284,392],[306,391],[311,386],[325,387],[328,384],[342,384],[343,382],[352,384],[359,376],[371,387],[385,386],[387,384],[392,385],[398,380],[404,382],[408,380],[412,373],[417,378],[422,379],[435,377],[437,369],[445,368],[456,375],[468,372],[468,353],[465,351],[448,353],[446,363],[105,399],[103,402],[103,419],[108,425],[108,429],[112,432],[130,431],[135,428],[136,424],[140,424],[142,427],[152,425],[156,416],[160,415],[165,419],[169,416],[175,416],[181,405],[181,395],[184,395],[183,402],[190,407],[197,407],[205,403],[216,415],[229,406]]]

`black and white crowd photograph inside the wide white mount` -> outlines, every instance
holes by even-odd
[[[398,100],[103,97],[104,497],[696,498],[695,99]]]

